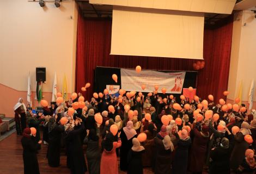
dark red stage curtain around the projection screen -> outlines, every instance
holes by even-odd
[[[109,55],[111,25],[109,19],[85,19],[78,15],[76,92],[81,92],[81,87],[89,82],[90,88],[83,92],[86,100],[93,94],[96,66],[135,68],[141,65],[142,69],[149,70],[193,70],[192,64],[197,61],[193,59]],[[197,83],[197,95],[202,98],[212,94],[217,101],[228,88],[232,30],[233,21],[229,20],[222,27],[204,31],[205,67],[199,70]]]

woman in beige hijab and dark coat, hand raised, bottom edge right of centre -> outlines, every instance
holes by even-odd
[[[161,130],[162,131],[162,130]],[[159,134],[163,139],[155,138],[156,146],[156,161],[155,173],[156,174],[170,174],[172,173],[172,155],[174,146],[170,141],[169,135]]]

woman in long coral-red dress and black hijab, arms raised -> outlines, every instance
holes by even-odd
[[[115,149],[122,144],[120,133],[118,133],[118,141],[114,141],[114,135],[108,132],[102,141],[103,152],[100,161],[101,174],[118,174],[118,162]],[[127,164],[126,164],[127,165]]]

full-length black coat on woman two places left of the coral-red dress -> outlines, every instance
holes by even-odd
[[[75,126],[65,137],[67,150],[67,163],[71,174],[83,174],[87,171],[86,160],[83,154],[81,134],[84,133],[84,124]]]

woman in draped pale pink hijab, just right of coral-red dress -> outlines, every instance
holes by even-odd
[[[136,137],[137,132],[133,129],[132,121],[128,121],[126,127],[123,127],[120,132],[122,146],[120,147],[120,169],[127,170],[127,154],[132,147],[132,139]]]

